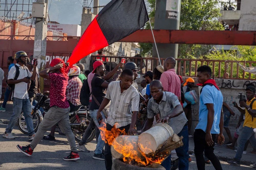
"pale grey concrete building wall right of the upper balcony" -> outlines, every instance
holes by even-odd
[[[256,30],[256,1],[243,0],[241,2],[241,16],[239,21],[239,30],[255,31]]]

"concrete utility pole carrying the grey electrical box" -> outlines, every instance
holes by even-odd
[[[37,2],[46,3],[46,13],[48,13],[48,0],[37,0]],[[36,18],[35,22],[35,40],[34,40],[34,54],[37,58],[39,71],[45,69],[46,56],[46,37],[47,37],[47,14],[46,18]],[[44,78],[39,79],[40,91],[44,91]]]

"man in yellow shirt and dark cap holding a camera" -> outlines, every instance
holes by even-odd
[[[244,151],[244,146],[250,140],[253,149],[256,149],[256,140],[254,137],[253,128],[256,128],[256,102],[255,102],[255,86],[250,84],[246,87],[247,101],[239,100],[240,107],[234,102],[236,107],[242,114],[245,115],[243,129],[237,140],[237,153],[234,159],[227,161],[230,165],[240,166],[240,160]],[[242,108],[244,107],[244,108]]]

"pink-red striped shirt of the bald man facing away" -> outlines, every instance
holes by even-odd
[[[160,81],[165,91],[172,92],[180,100],[181,91],[180,91],[180,78],[176,74],[175,69],[169,69],[162,73]]]

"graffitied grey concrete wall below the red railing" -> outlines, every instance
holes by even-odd
[[[144,79],[142,78],[143,75],[141,75],[141,78],[136,79],[139,87],[140,82]],[[183,81],[185,81],[187,77],[183,77]],[[223,101],[226,102],[229,107],[234,111],[235,116],[231,116],[230,122],[229,122],[229,129],[231,131],[231,136],[234,135],[234,132],[236,131],[236,126],[238,123],[238,119],[240,116],[240,112],[233,107],[232,101],[239,102],[239,99],[237,96],[239,95],[239,92],[243,92],[243,95],[245,95],[245,85],[248,83],[254,83],[256,85],[256,81],[249,81],[249,80],[233,80],[233,79],[215,79],[218,87],[220,88],[220,91],[223,95]],[[197,78],[195,78],[195,84],[197,83]],[[194,86],[193,90],[196,91],[196,93],[199,95],[198,86]],[[142,89],[142,88],[141,88]],[[198,115],[199,114],[199,105],[198,103],[195,105],[192,105],[192,126],[190,130],[190,134],[194,133],[195,127],[198,123]],[[225,136],[226,142],[228,141],[228,136],[226,134],[226,131],[223,129],[223,134]]]

